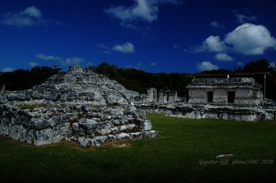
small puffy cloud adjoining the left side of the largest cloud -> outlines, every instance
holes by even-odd
[[[201,45],[198,47],[192,47],[192,52],[224,52],[228,50],[224,41],[221,41],[219,36],[209,36]]]

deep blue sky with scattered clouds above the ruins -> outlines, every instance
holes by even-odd
[[[0,71],[99,65],[233,69],[276,58],[276,1],[0,0]]]

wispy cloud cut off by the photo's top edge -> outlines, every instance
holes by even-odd
[[[161,3],[173,3],[179,4],[179,0],[133,0],[135,4],[130,7],[117,6],[103,10],[106,14],[110,14],[111,17],[115,17],[122,21],[122,24],[130,21],[156,21],[159,11],[158,6]]]

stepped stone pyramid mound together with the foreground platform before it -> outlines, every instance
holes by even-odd
[[[26,91],[0,95],[0,134],[37,146],[67,140],[82,147],[112,140],[155,138],[141,98],[115,80],[80,66]],[[139,101],[138,101],[139,102]],[[22,109],[29,105],[34,109]]]

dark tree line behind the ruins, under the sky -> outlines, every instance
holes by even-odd
[[[90,66],[90,69],[98,74],[103,74],[112,80],[124,85],[127,89],[146,94],[146,90],[150,87],[156,89],[176,90],[178,96],[188,96],[186,86],[190,84],[193,77],[187,73],[148,73],[137,69],[124,69],[116,65],[110,65],[106,62],[97,66]],[[47,78],[61,72],[61,68],[54,65],[53,67],[32,67],[32,69],[17,69],[14,72],[7,72],[0,76],[0,85],[6,85],[6,89],[10,91],[30,89],[34,85],[44,83]],[[246,63],[243,67],[235,67],[233,70],[217,69],[204,71],[196,74],[231,74],[241,73],[246,76],[248,72],[270,72],[266,77],[266,98],[276,100],[276,66],[271,66],[269,61],[262,58],[257,61]],[[216,76],[217,77],[217,76]],[[219,76],[225,77],[225,76]],[[248,75],[255,78],[256,82],[264,85],[264,74]]]

